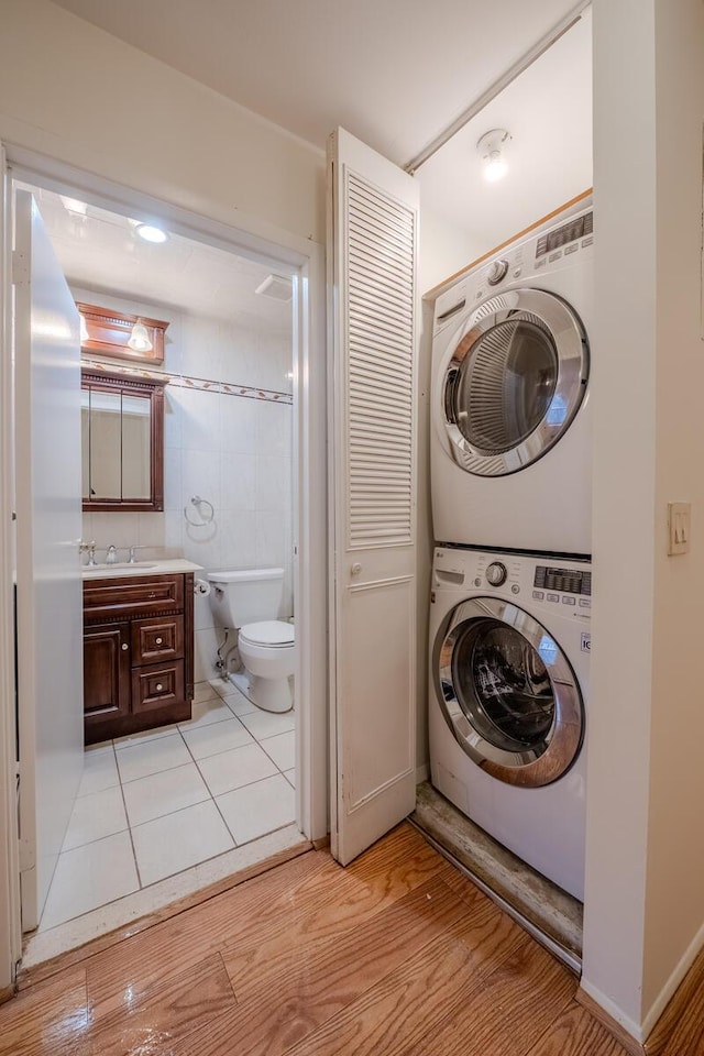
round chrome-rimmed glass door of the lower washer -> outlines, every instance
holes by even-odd
[[[457,741],[499,781],[540,788],[576,759],[584,735],[576,678],[524,609],[495,597],[458,605],[438,636],[433,672]]]

